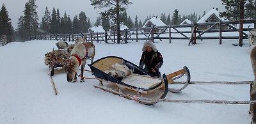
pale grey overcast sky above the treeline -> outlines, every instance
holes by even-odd
[[[17,22],[20,15],[23,15],[25,3],[28,0],[0,0],[0,4],[4,4],[8,10],[8,15],[12,19],[12,25],[17,27]],[[173,14],[173,10],[178,9],[181,15],[188,15],[196,12],[198,15],[208,12],[213,7],[219,8],[220,12],[225,10],[225,6],[221,4],[221,0],[130,0],[131,5],[128,6],[127,14],[134,20],[136,15],[142,22],[147,15],[160,15],[165,12]],[[48,6],[50,12],[52,8],[59,8],[61,16],[67,12],[73,20],[74,15],[78,15],[81,11],[85,12],[90,17],[92,24],[94,24],[99,14],[90,5],[90,0],[36,0],[38,6],[37,13],[41,22],[44,15],[45,7]]]

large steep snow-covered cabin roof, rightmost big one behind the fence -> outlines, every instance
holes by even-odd
[[[209,19],[209,17],[211,17],[212,15],[215,15],[215,17],[217,17],[218,19],[221,19],[222,21],[227,21],[225,20],[225,17],[220,17],[220,12],[216,9],[213,8],[212,10],[210,10],[209,12],[207,12],[204,17],[202,17],[200,20],[197,21],[197,23],[205,23],[206,20]]]

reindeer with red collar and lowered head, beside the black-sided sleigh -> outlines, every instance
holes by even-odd
[[[95,56],[95,46],[93,43],[78,43],[75,45],[74,49],[70,53],[70,58],[67,61],[65,70],[67,72],[68,82],[77,82],[77,72],[79,71],[79,66],[81,65],[81,81],[84,82],[83,72],[84,66],[86,65],[86,60],[90,59],[93,63],[93,58]]]

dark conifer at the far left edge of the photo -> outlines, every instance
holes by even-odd
[[[12,40],[13,27],[4,4],[0,10],[0,35],[6,35],[8,42]]]

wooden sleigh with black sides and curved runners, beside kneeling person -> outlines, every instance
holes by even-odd
[[[132,75],[117,79],[106,74],[105,71],[116,63],[127,66],[129,70],[132,70]],[[99,80],[99,85],[95,85],[95,88],[100,88],[120,97],[136,100],[146,105],[156,104],[160,99],[166,97],[168,91],[182,91],[190,82],[190,74],[186,66],[182,70],[173,72],[172,74],[163,74],[162,77],[153,77],[143,71],[139,66],[116,56],[101,58],[89,66],[93,75]],[[168,88],[169,84],[180,79],[180,77],[185,77],[182,88]]]

